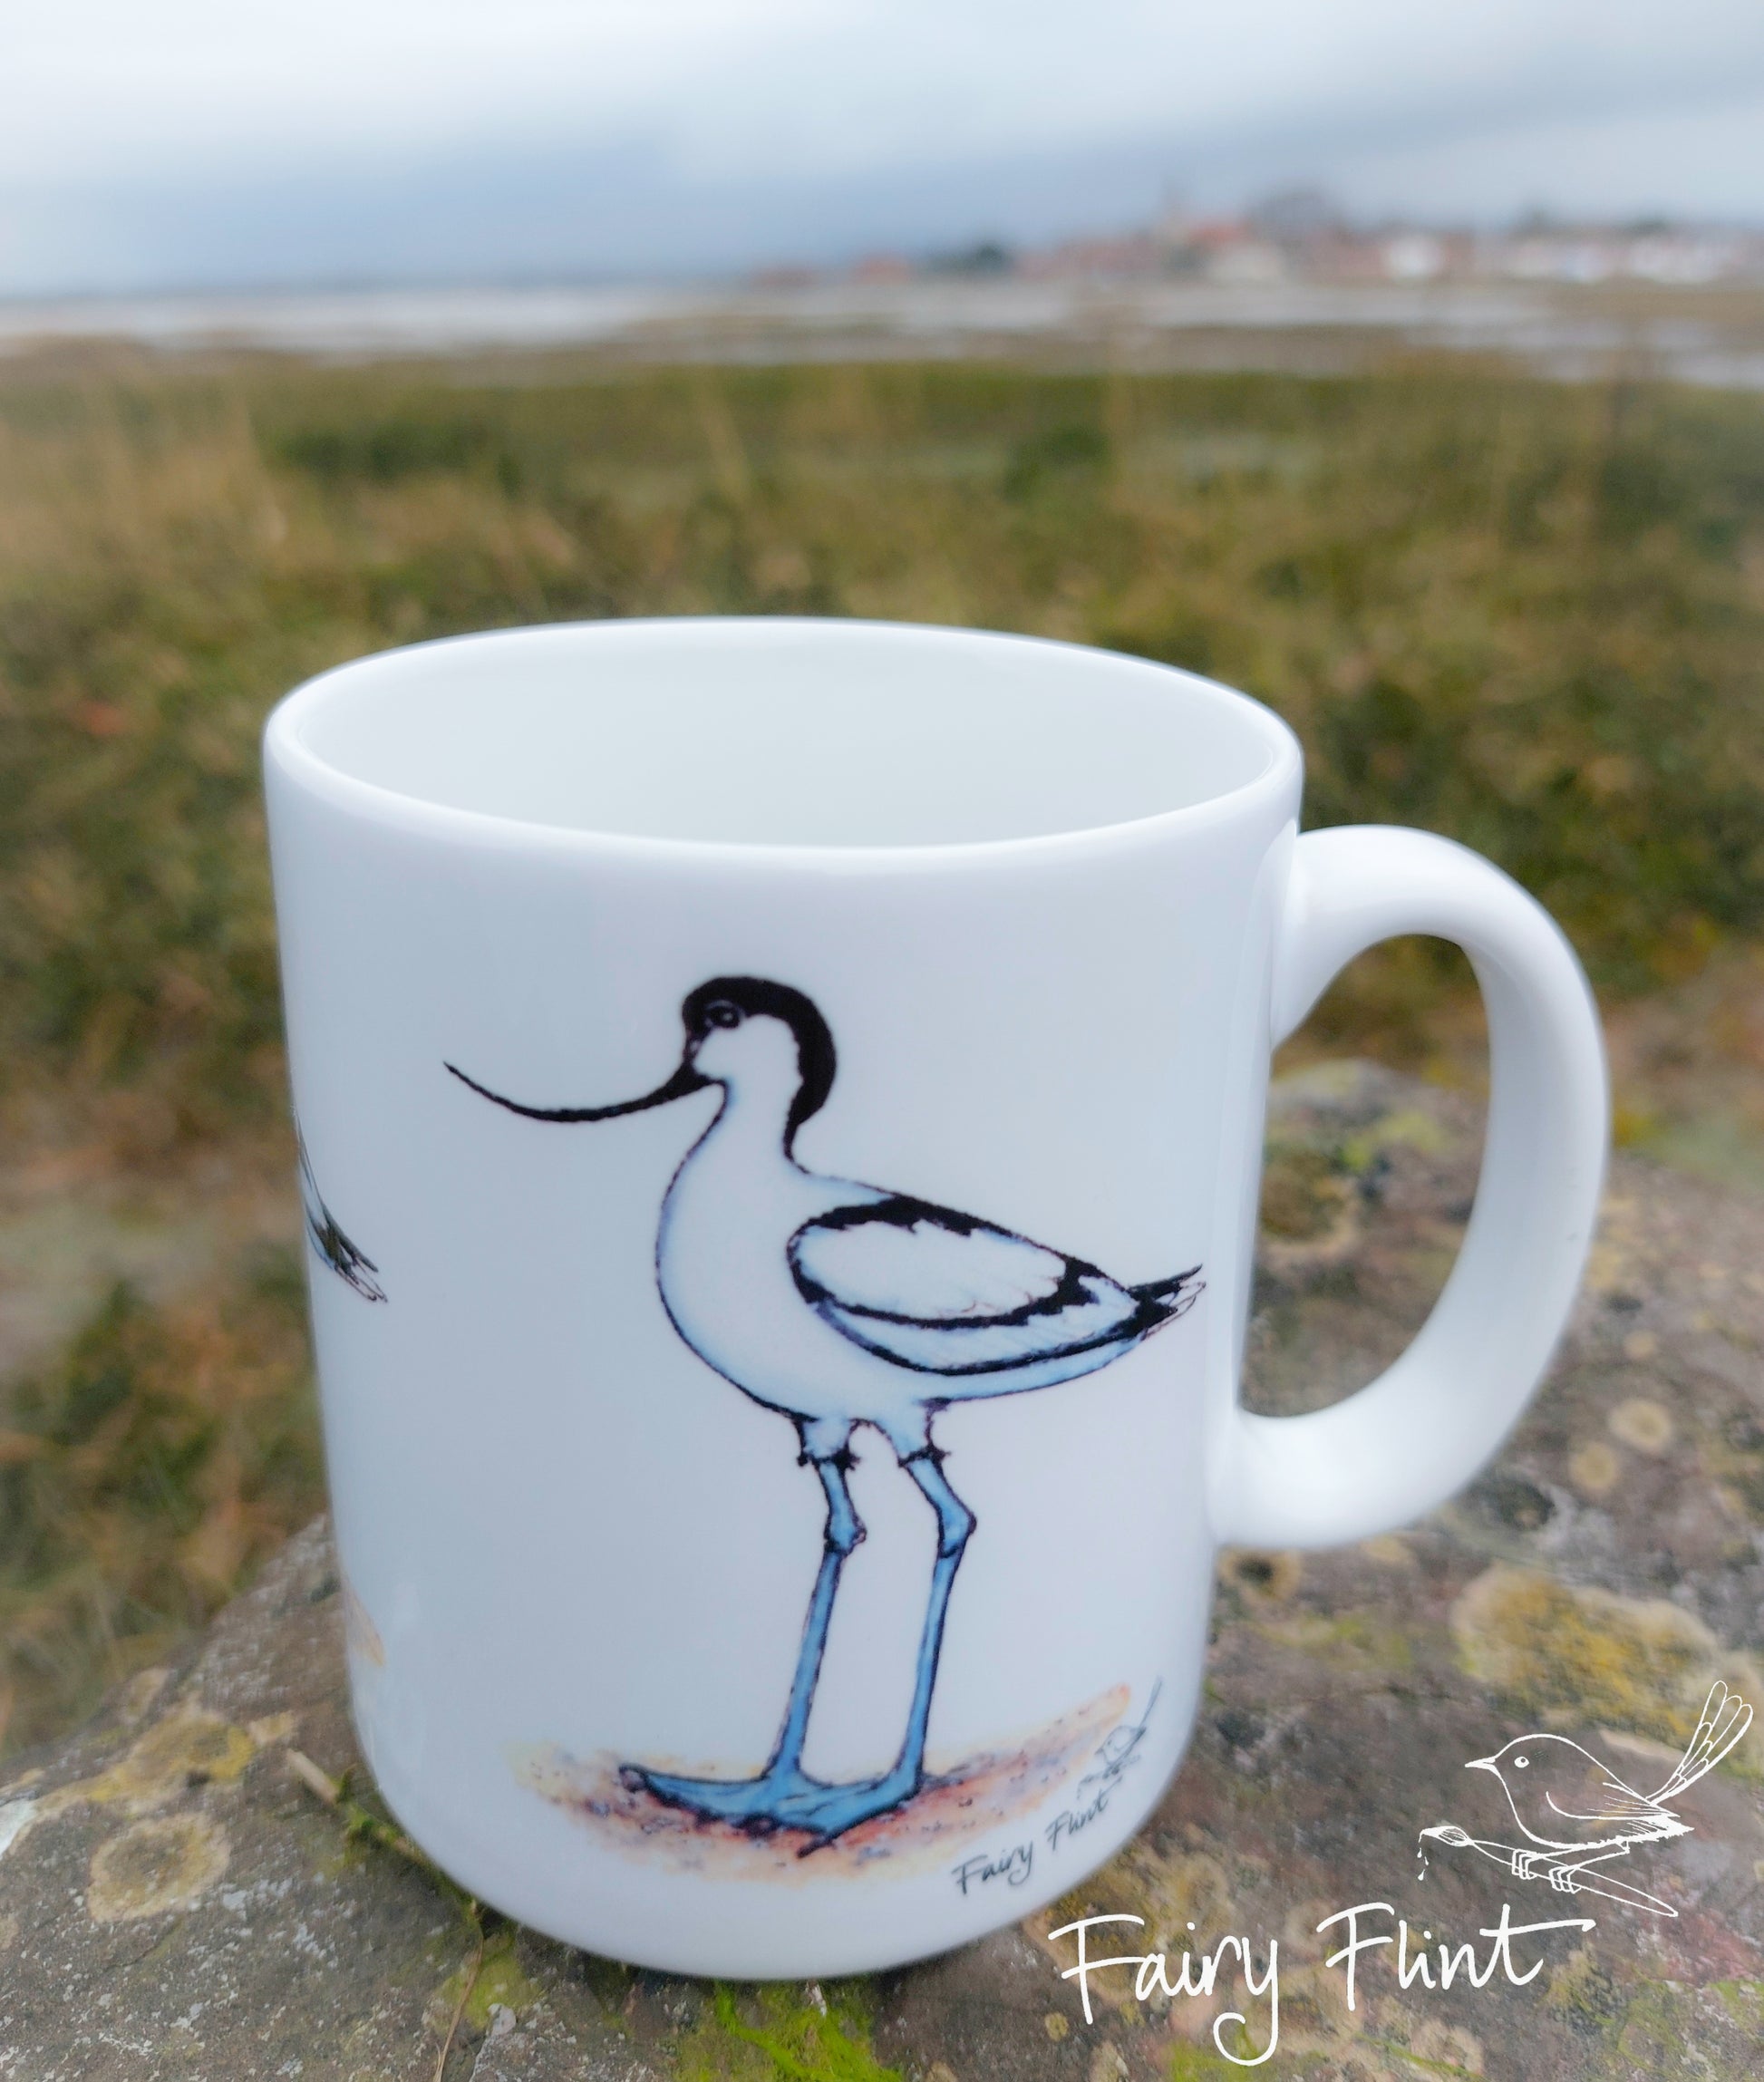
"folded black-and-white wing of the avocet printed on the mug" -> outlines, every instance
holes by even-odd
[[[1129,1291],[1081,1258],[906,1193],[806,1222],[789,1266],[804,1301],[852,1343],[950,1376],[1143,1337],[1193,1297],[1191,1274]]]

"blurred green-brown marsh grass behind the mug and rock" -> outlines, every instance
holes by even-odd
[[[1445,362],[19,360],[0,1749],[169,1653],[321,1503],[269,706],[387,643],[608,614],[973,623],[1233,681],[1302,735],[1308,822],[1452,833],[1552,906],[1631,1141],[1764,1149],[1756,398]],[[1466,1078],[1477,1045],[1427,943],[1356,964],[1302,1043]]]

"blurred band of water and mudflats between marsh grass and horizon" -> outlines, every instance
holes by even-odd
[[[460,287],[0,304],[0,354],[50,341],[327,360],[591,348],[625,360],[1106,358],[1347,371],[1391,350],[1506,354],[1537,375],[1764,389],[1764,300],[1624,300],[1556,283],[916,279],[793,287]]]

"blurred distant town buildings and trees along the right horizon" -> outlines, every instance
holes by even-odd
[[[1764,229],[1672,223],[1562,223],[1535,214],[1508,231],[1352,225],[1327,198],[1295,189],[1243,217],[1168,208],[1150,229],[1010,248],[996,239],[937,254],[868,254],[848,269],[762,269],[758,287],[810,281],[906,283],[925,277],[1029,281],[1656,283],[1674,289],[1764,283]]]

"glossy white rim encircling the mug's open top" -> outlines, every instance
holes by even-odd
[[[317,752],[304,735],[304,727],[337,700],[346,700],[362,681],[373,681],[389,662],[410,660],[431,652],[456,652],[479,648],[485,652],[516,650],[529,641],[577,635],[594,641],[596,635],[619,633],[629,637],[679,637],[691,633],[704,637],[714,633],[725,641],[764,641],[779,631],[812,631],[816,635],[841,637],[929,637],[948,639],[952,645],[979,645],[991,652],[1035,650],[1068,652],[1093,662],[1110,660],[1141,675],[1154,675],[1179,683],[1189,697],[1204,697],[1216,708],[1225,708],[1239,725],[1245,725],[1266,752],[1260,772],[1235,787],[1220,789],[1200,802],[1156,810],[1148,816],[1129,816],[1106,822],[1073,824],[1060,831],[1043,831],[1018,837],[983,839],[937,839],[900,843],[856,843],[833,845],[818,841],[781,839],[698,839],[679,835],[598,831],[581,824],[560,824],[544,818],[510,816],[496,810],[469,810],[456,804],[435,802],[427,795],[389,787],[381,781],[367,781],[360,775],[335,764]],[[787,866],[787,868],[908,868],[908,866],[956,866],[981,860],[1027,860],[1068,852],[1095,852],[1123,843],[1143,843],[1164,833],[1206,829],[1208,824],[1231,822],[1252,816],[1260,806],[1279,802],[1287,793],[1297,793],[1304,777],[1304,752],[1291,727],[1266,704],[1225,681],[1183,666],[1164,664],[1154,658],[1139,658],[1131,652],[1110,652],[1093,643],[1070,643],[1058,637],[1020,635],[1014,631],[973,629],[960,623],[898,623],[858,616],[783,616],[783,614],[675,614],[675,616],[608,616],[602,620],[529,623],[508,629],[464,631],[450,637],[431,637],[423,643],[398,643],[379,652],[362,652],[342,664],[300,681],[271,710],[262,733],[262,756],[267,772],[279,772],[308,795],[317,795],[335,810],[344,810],[364,822],[402,831],[410,837],[450,839],[454,843],[494,845],[498,849],[539,849],[548,854],[600,854],[639,856],[654,864],[675,862],[679,866]]]

